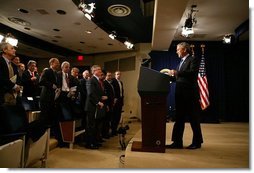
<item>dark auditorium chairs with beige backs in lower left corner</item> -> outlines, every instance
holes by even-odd
[[[23,106],[0,106],[0,167],[27,168],[38,161],[47,167],[50,128],[38,129],[37,114]]]

